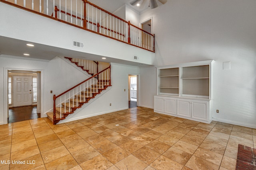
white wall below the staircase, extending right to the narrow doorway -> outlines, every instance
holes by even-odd
[[[60,123],[128,109],[128,74],[139,74],[139,72],[138,67],[111,63],[112,86],[84,104],[82,108],[77,109],[76,113],[68,115]]]

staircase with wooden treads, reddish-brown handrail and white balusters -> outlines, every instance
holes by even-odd
[[[48,112],[47,115],[54,125],[59,121],[66,119],[69,114],[75,113],[76,109],[81,108],[84,104],[87,104],[90,100],[95,98],[96,95],[111,86],[111,66],[94,74],[93,69],[86,68],[86,66],[88,66],[88,61],[79,59],[78,62],[76,59],[69,57],[65,58],[92,76],[69,90],[66,90],[62,94],[53,96],[53,111]],[[98,70],[98,62],[94,63],[97,64]],[[89,68],[94,68],[95,70],[95,67],[93,66],[89,66]]]

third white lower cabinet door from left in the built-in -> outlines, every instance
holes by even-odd
[[[177,115],[191,117],[190,100],[177,100]]]

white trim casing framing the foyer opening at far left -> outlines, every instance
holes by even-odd
[[[8,123],[8,70],[35,71],[40,72],[40,92],[41,92],[41,117],[44,113],[44,70],[27,69],[27,68],[8,68],[4,67],[4,124]]]

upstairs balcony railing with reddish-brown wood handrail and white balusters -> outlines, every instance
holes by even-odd
[[[0,0],[154,52],[154,35],[87,0]]]

